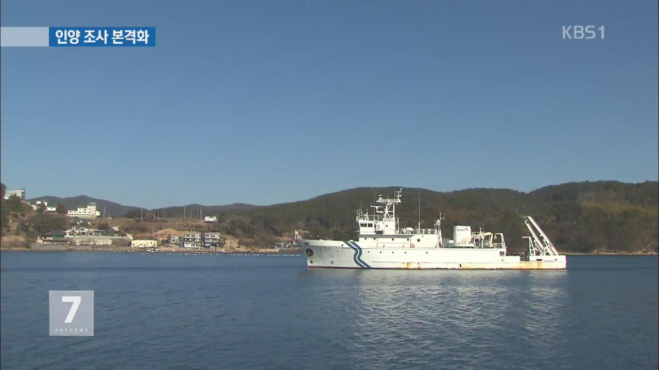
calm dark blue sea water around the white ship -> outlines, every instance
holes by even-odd
[[[1,253],[2,369],[657,369],[658,258],[307,269],[301,255]],[[94,290],[94,336],[49,336]]]

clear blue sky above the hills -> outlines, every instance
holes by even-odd
[[[656,1],[2,1],[1,179],[28,198],[266,205],[358,186],[658,178]],[[605,26],[563,40],[563,25]]]

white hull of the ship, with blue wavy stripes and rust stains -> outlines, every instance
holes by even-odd
[[[308,267],[348,269],[565,269],[565,255],[505,255],[505,248],[378,248],[341,240],[299,240]]]

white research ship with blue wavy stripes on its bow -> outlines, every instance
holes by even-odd
[[[530,236],[524,255],[509,255],[502,232],[473,232],[470,225],[455,223],[453,239],[442,237],[442,217],[433,228],[399,227],[396,206],[403,189],[393,198],[371,205],[372,213],[357,210],[357,240],[298,238],[308,267],[347,269],[566,269],[547,234],[530,217],[523,217]],[[420,217],[419,217],[420,219]]]

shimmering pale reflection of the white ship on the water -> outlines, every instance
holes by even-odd
[[[309,272],[345,281],[341,313],[349,343],[340,345],[351,361],[397,369],[542,367],[564,357],[567,273]]]

